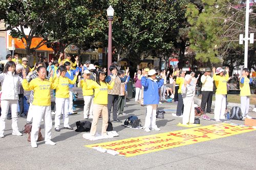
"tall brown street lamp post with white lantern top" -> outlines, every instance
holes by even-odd
[[[114,18],[114,9],[110,7],[106,10],[109,20],[109,45],[108,45],[108,75],[111,74],[110,65],[112,64],[112,21]]]

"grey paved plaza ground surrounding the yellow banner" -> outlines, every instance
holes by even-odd
[[[129,115],[137,115],[144,124],[145,107],[134,102],[127,102],[124,112],[127,115],[119,116],[124,121]],[[60,132],[52,131],[52,141],[56,145],[46,145],[38,142],[38,148],[31,148],[27,141],[28,135],[11,135],[11,120],[6,120],[5,137],[0,138],[1,169],[255,169],[256,167],[256,131],[233,135],[229,137],[208,140],[195,144],[188,144],[177,148],[123,157],[101,153],[84,145],[115,141],[131,137],[185,130],[188,128],[177,126],[182,121],[180,117],[172,116],[176,112],[177,103],[163,103],[158,110],[165,109],[164,119],[157,119],[161,131],[147,133],[141,129],[124,128],[119,123],[113,123],[118,137],[90,141],[82,138],[84,132],[61,129]],[[83,119],[82,108],[78,114],[70,116],[70,125],[75,127],[75,122]],[[36,113],[35,113],[36,114]],[[252,117],[256,113],[250,112]],[[213,117],[213,114],[208,114]],[[53,120],[54,120],[54,116]],[[92,120],[92,119],[88,119]],[[25,118],[18,118],[19,130],[23,130]],[[62,122],[61,122],[62,123]],[[239,120],[229,123],[244,124]],[[201,119],[202,126],[218,124]],[[201,127],[202,127],[201,126]],[[61,124],[61,128],[63,124]],[[42,135],[44,134],[44,127]],[[101,129],[101,119],[98,130]]]

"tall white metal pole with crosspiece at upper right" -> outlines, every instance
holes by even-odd
[[[244,39],[244,68],[247,68],[248,64],[248,30],[249,30],[249,6],[250,0],[246,0],[246,11],[245,11],[245,39]]]

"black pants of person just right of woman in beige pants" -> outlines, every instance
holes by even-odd
[[[117,119],[117,110],[118,110],[118,96],[108,94],[108,113],[109,113],[109,121],[110,121],[110,113],[113,106],[113,120]]]

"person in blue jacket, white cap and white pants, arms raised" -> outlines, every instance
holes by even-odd
[[[142,70],[143,77],[141,78],[141,85],[144,87],[143,95],[144,100],[143,104],[146,105],[146,118],[145,118],[145,125],[144,131],[151,132],[151,130],[160,129],[156,125],[156,112],[157,112],[157,105],[159,104],[159,89],[163,85],[163,79],[157,81],[156,75],[157,72],[154,69],[148,71],[148,76],[146,78],[146,70]],[[165,77],[165,70],[162,73],[162,78]]]

